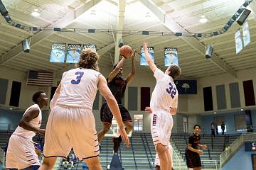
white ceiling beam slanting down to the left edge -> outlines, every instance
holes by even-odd
[[[73,23],[76,18],[81,16],[83,13],[88,11],[92,6],[95,6],[98,4],[100,0],[94,0],[94,1],[89,1],[86,5],[82,5],[75,9],[75,11],[70,11],[68,12],[63,18],[60,18],[58,21],[56,21],[53,24],[50,24],[47,28],[65,28],[70,25],[70,23]],[[38,33],[34,34],[31,36],[31,47],[34,45],[37,45],[39,42],[42,40],[45,40],[48,38],[48,36],[53,35],[55,32],[54,31],[38,31]],[[12,50],[9,52],[6,52],[5,55],[1,57],[1,65],[5,64],[6,62],[13,60],[15,57],[20,55],[23,52],[22,44],[19,43],[16,47],[14,47]]]

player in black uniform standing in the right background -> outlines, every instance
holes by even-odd
[[[202,149],[207,149],[207,145],[199,144],[201,139],[201,126],[194,125],[193,129],[193,135],[188,138],[188,147],[186,148],[185,152],[186,164],[188,166],[188,169],[200,170],[202,169],[202,165],[199,154],[203,154],[203,151],[199,150],[198,147],[201,147]]]

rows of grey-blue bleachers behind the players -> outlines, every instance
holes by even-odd
[[[6,143],[12,131],[0,131],[0,147],[6,147]],[[220,153],[223,152],[224,142],[231,144],[239,135],[224,135],[212,137],[201,135],[201,143],[208,145],[201,155],[201,162],[204,169],[218,169],[220,163]],[[174,169],[187,169],[185,162],[185,149],[188,142],[188,134],[172,134],[171,145],[174,147]],[[122,143],[119,149],[119,158],[125,170],[154,169],[154,159],[156,151],[150,133],[133,133],[130,137],[131,147],[127,148]],[[103,169],[107,169],[113,156],[112,137],[105,137],[101,143],[100,162]],[[62,159],[58,159],[55,169],[64,169],[61,165]],[[82,162],[73,169],[82,169]]]

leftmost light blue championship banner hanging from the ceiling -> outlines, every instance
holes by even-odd
[[[50,62],[64,62],[65,43],[53,42],[50,52]]]

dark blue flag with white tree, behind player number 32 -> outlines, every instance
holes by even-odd
[[[178,94],[197,94],[196,80],[174,80]]]

